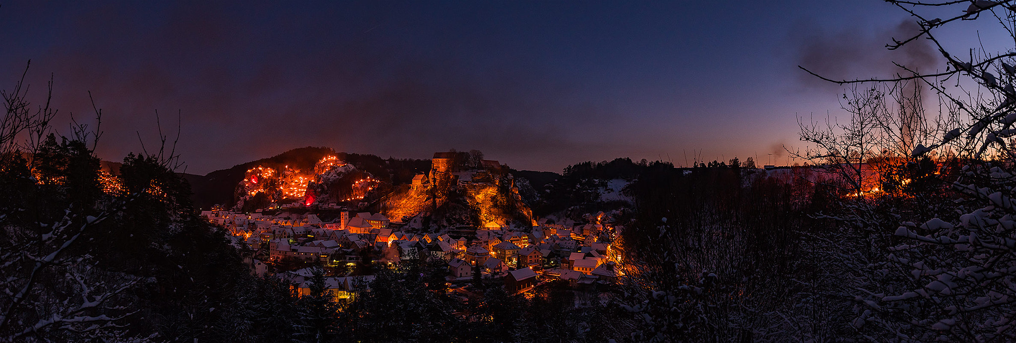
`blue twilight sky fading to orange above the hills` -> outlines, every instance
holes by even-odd
[[[113,161],[138,134],[155,144],[156,110],[167,131],[180,113],[197,174],[306,146],[478,149],[558,172],[695,152],[768,164],[800,146],[797,116],[840,113],[841,89],[797,65],[943,68],[934,50],[884,50],[910,21],[877,0],[0,2],[0,89],[30,59],[33,94],[52,73],[64,121],[91,117],[90,91]]]

